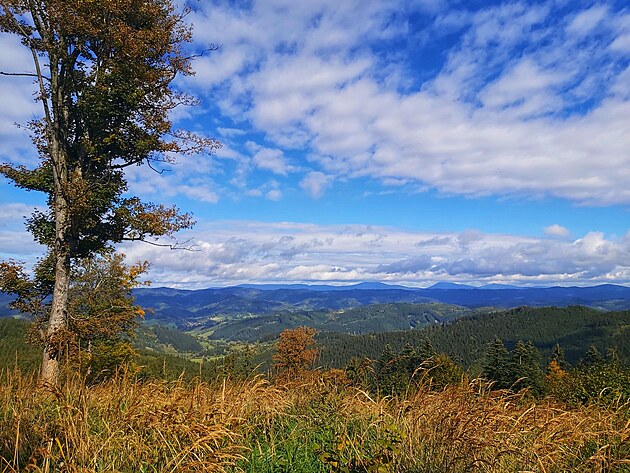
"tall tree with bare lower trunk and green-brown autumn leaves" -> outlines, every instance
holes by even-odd
[[[216,141],[175,130],[169,112],[195,101],[171,87],[191,74],[183,45],[191,31],[171,0],[0,0],[0,31],[33,57],[43,118],[29,124],[33,169],[0,165],[18,187],[43,192],[48,210],[27,221],[46,245],[53,275],[42,380],[55,383],[51,346],[68,329],[71,262],[123,240],[170,236],[193,220],[175,207],[125,196],[124,169],[212,151]]]

